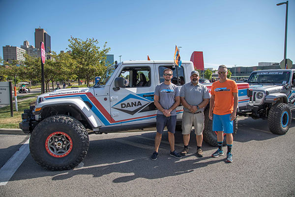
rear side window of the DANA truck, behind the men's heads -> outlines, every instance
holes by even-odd
[[[164,82],[164,70],[166,68],[170,68],[173,71],[173,78],[171,79],[171,83],[174,83],[177,86],[182,86],[185,83],[184,80],[184,72],[183,72],[183,66],[159,66],[159,79],[160,83]]]

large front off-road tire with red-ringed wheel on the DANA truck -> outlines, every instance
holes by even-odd
[[[67,144],[63,143],[65,141]],[[64,148],[58,147],[62,144]],[[74,168],[84,160],[88,148],[87,130],[78,120],[66,115],[51,116],[40,122],[32,131],[29,140],[33,159],[37,164],[52,171]],[[64,153],[60,154],[59,151]]]

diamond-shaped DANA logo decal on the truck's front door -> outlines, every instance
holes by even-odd
[[[112,106],[112,108],[120,110],[130,115],[134,115],[136,112],[143,109],[150,103],[150,100],[142,97],[129,94],[124,99],[121,99],[118,103]]]

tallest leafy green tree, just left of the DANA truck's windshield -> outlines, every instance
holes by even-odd
[[[95,75],[99,76],[105,68],[106,54],[110,48],[106,48],[107,42],[103,45],[103,49],[97,46],[98,41],[94,38],[87,38],[85,41],[80,38],[71,36],[68,39],[69,49],[72,51],[71,56],[77,62],[76,74],[78,78],[84,78],[89,86],[89,81],[94,79]]]

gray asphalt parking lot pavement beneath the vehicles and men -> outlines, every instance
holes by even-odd
[[[232,164],[225,157],[212,158],[216,148],[205,142],[204,157],[197,158],[193,133],[190,153],[173,158],[167,132],[158,159],[151,161],[154,136],[154,131],[90,135],[88,155],[73,170],[45,170],[29,154],[0,186],[0,196],[295,196],[294,118],[285,135],[269,132],[266,120],[240,120]],[[181,137],[176,134],[177,151],[183,147]],[[0,135],[1,167],[28,138]]]

